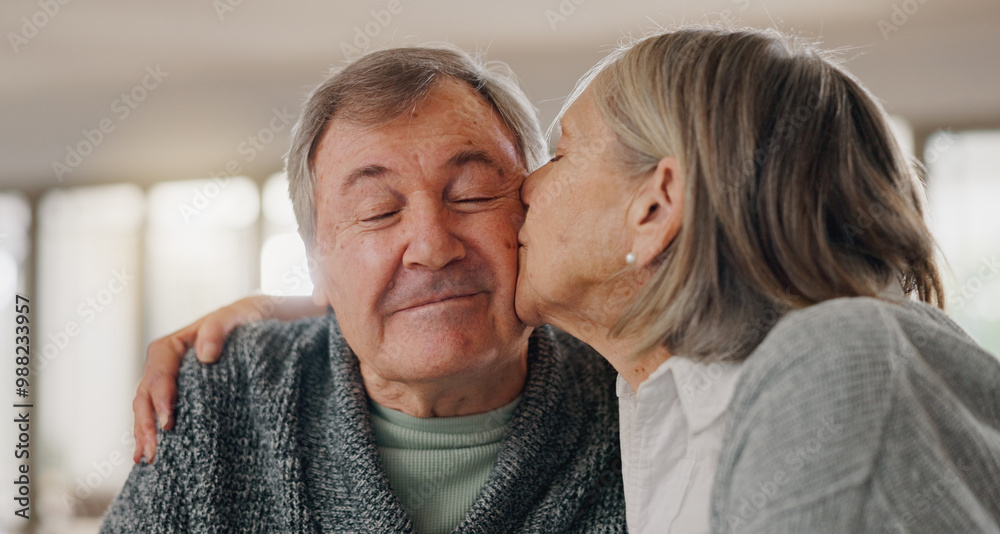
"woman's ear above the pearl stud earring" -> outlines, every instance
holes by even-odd
[[[667,248],[684,222],[684,175],[677,158],[661,159],[643,180],[627,215],[631,252],[640,269]]]

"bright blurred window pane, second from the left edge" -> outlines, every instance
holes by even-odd
[[[38,211],[36,513],[95,515],[132,467],[145,199],[134,185],[55,189]]]

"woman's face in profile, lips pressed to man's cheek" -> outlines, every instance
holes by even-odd
[[[562,119],[556,155],[521,189],[517,314],[531,325],[605,315],[602,292],[626,268],[629,191],[613,168],[614,133],[589,90]],[[560,324],[563,323],[563,324]]]

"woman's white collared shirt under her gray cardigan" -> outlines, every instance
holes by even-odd
[[[724,416],[740,368],[674,356],[637,392],[618,376],[625,517],[632,534],[709,532]]]

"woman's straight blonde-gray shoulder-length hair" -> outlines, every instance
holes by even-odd
[[[673,156],[686,181],[682,229],[613,335],[739,359],[784,313],[828,299],[898,283],[943,306],[920,180],[874,98],[812,46],[682,29],[623,47],[584,85],[623,176]]]

